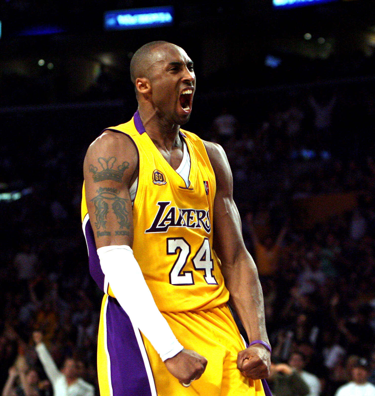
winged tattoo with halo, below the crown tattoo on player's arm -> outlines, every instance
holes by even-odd
[[[126,210],[126,203],[129,200],[117,196],[117,194],[119,194],[119,190],[117,190],[117,188],[99,187],[97,193],[98,195],[91,200],[91,202],[93,202],[95,206],[95,217],[96,217],[95,227],[97,228],[97,230],[99,228],[106,228],[107,215],[108,212],[110,211],[109,205],[111,205],[111,209],[113,213],[116,215],[117,223],[120,226],[120,230],[123,228],[129,229],[130,228],[130,222],[128,219],[129,212]],[[102,236],[99,235],[99,232],[97,235]],[[117,234],[117,235],[123,235],[123,234]]]

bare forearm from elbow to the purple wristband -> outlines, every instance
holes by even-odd
[[[248,335],[249,341],[269,343],[265,328],[263,293],[254,260],[247,251],[237,255],[232,265],[222,267],[230,300]]]

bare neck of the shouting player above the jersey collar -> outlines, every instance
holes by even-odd
[[[155,109],[150,111],[139,106],[138,112],[146,133],[157,147],[170,150],[181,144],[178,134],[180,125],[161,118]]]

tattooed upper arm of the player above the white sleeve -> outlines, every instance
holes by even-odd
[[[126,135],[108,131],[96,139],[83,164],[86,203],[97,248],[133,245],[129,187],[138,154]]]

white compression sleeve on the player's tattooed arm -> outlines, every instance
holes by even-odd
[[[97,250],[100,266],[117,301],[148,338],[163,362],[184,347],[157,309],[142,271],[127,245],[103,246]]]

